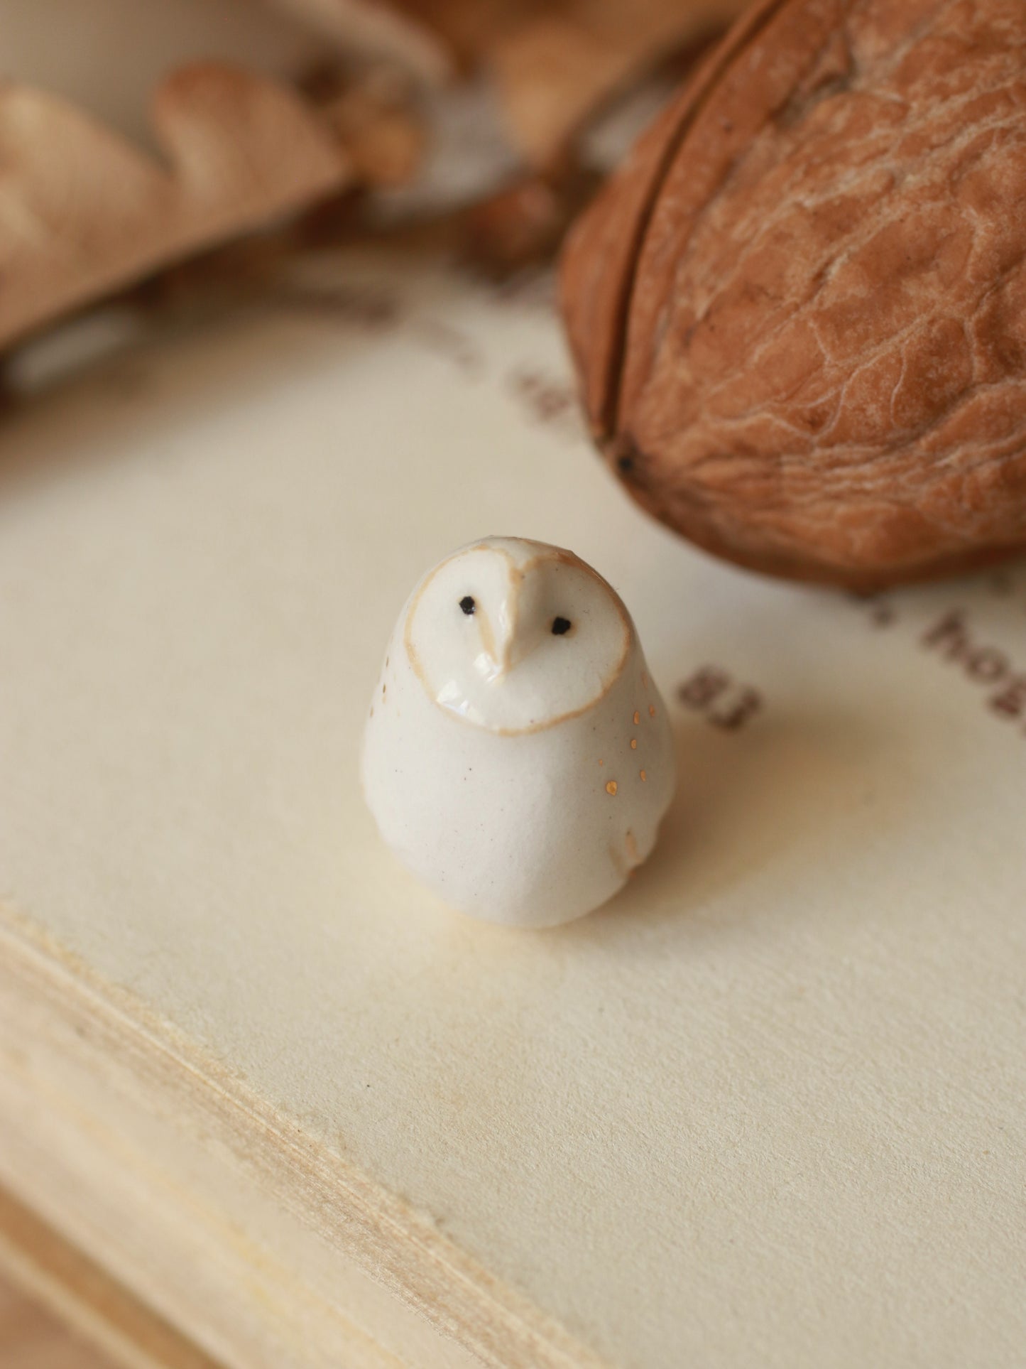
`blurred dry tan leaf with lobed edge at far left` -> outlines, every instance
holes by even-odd
[[[0,86],[0,346],[352,179],[293,90],[224,64],[172,74],[153,123],[167,166],[55,96]]]

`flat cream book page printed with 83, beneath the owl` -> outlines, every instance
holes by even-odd
[[[568,1364],[1022,1362],[1022,565],[856,600],[705,557],[590,450],[547,289],[440,266],[312,261],[36,381],[0,428],[11,927]],[[357,776],[406,594],[488,533],[613,583],[679,752],[655,856],[547,932],[424,893]]]

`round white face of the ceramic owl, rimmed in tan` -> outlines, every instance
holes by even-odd
[[[573,553],[486,538],[442,561],[406,612],[428,697],[492,732],[540,731],[610,689],[632,642],[618,596]]]

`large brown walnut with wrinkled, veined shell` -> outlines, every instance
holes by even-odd
[[[1023,205],[1023,0],[763,0],[568,242],[596,441],[770,574],[874,589],[1021,549]]]

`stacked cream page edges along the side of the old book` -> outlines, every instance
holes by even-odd
[[[111,1272],[77,1307],[131,1288],[133,1307],[231,1369],[341,1355],[346,1369],[599,1369],[408,1202],[3,902],[0,1043],[0,1176]],[[51,1254],[44,1288],[90,1284],[93,1265],[52,1277],[64,1258]],[[124,1321],[115,1313],[104,1324]],[[208,1369],[178,1353],[142,1364]]]

